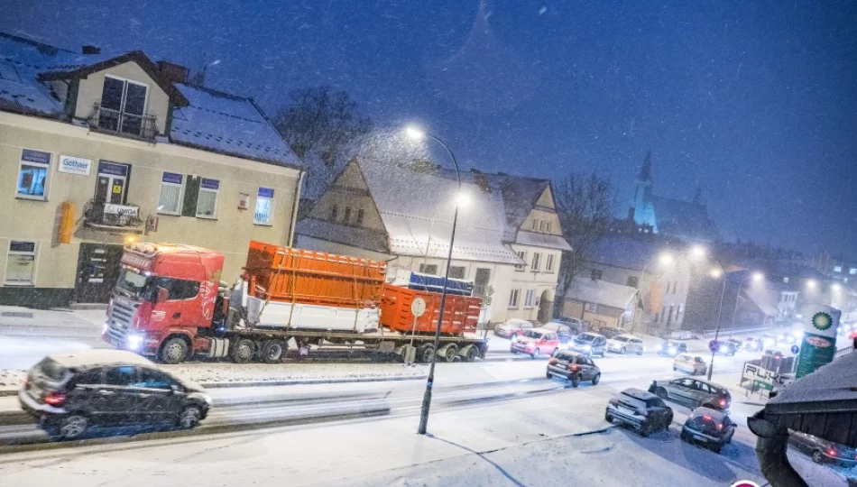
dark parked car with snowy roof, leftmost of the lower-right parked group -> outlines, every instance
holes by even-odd
[[[608,423],[628,425],[642,436],[667,430],[672,423],[673,412],[667,404],[651,392],[626,389],[607,402],[604,419]]]

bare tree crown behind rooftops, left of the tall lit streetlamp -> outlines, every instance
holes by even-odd
[[[372,120],[363,115],[346,91],[332,87],[305,87],[290,93],[291,103],[274,118],[273,124],[300,158],[318,157],[334,168],[347,147],[372,130]]]

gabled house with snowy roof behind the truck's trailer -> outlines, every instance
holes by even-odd
[[[484,321],[547,321],[557,288],[562,237],[545,179],[473,171],[462,175],[450,277],[473,280]],[[399,270],[446,272],[454,176],[437,168],[351,161],[299,220],[301,247],[389,262]]]

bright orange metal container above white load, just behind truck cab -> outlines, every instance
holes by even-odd
[[[244,279],[259,299],[367,308],[383,296],[387,262],[250,242]]]

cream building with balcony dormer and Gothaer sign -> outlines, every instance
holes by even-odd
[[[0,304],[106,303],[126,238],[291,242],[302,165],[250,98],[141,51],[0,33]],[[15,188],[12,189],[13,182]]]

